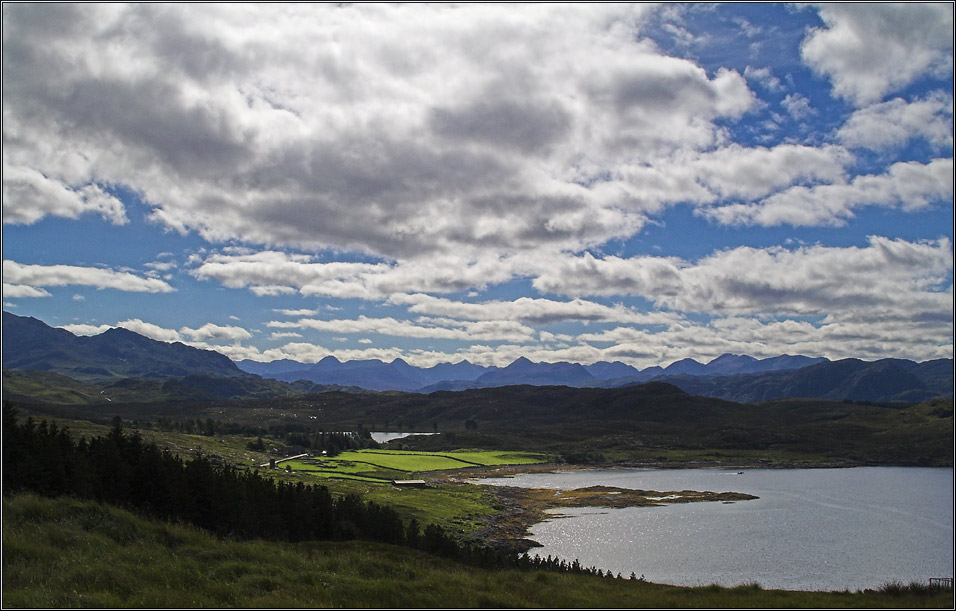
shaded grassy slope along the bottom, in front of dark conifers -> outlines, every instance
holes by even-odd
[[[684,588],[461,565],[361,541],[216,539],[93,502],[3,501],[4,608],[951,608],[952,591]]]

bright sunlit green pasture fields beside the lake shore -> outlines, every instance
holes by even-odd
[[[306,458],[280,463],[298,473],[320,477],[391,481],[430,471],[467,467],[495,467],[543,463],[545,454],[494,450],[410,452],[406,450],[354,450],[333,458]]]

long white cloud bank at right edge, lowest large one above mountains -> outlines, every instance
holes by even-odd
[[[555,261],[534,284],[567,295],[639,295],[671,310],[714,315],[882,312],[951,321],[944,284],[952,269],[947,238],[908,242],[874,236],[865,247],[738,247],[693,263],[585,254]]]

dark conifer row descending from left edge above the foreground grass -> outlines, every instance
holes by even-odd
[[[21,423],[16,409],[4,402],[3,494],[20,492],[93,499],[221,537],[364,539],[482,567],[600,573],[577,561],[545,561],[469,544],[436,524],[406,523],[393,508],[356,494],[335,497],[322,485],[275,481],[201,455],[184,460],[127,432],[118,418],[106,435],[76,440],[46,420]]]

